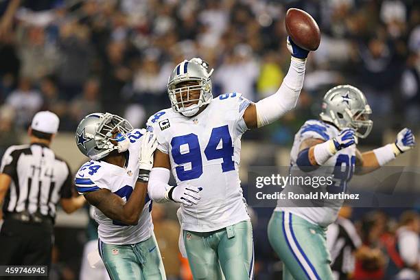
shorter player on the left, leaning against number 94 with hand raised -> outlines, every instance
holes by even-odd
[[[111,279],[166,279],[147,196],[156,137],[110,113],[80,121],[76,143],[91,161],[75,185],[95,207],[98,247]]]

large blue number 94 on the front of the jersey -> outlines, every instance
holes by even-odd
[[[222,141],[222,147],[218,148],[220,141]],[[177,136],[172,138],[171,145],[172,159],[180,165],[175,168],[178,179],[184,181],[199,178],[202,174],[202,157],[198,136],[194,133]],[[232,138],[227,125],[211,130],[209,143],[207,143],[204,153],[209,161],[223,159],[222,172],[235,170],[235,163],[232,159]],[[191,167],[186,170],[185,164],[188,163],[191,164]]]

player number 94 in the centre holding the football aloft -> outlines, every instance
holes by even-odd
[[[291,40],[288,49],[290,69],[280,88],[255,104],[240,93],[213,99],[213,69],[200,58],[184,60],[167,84],[172,108],[148,120],[159,142],[148,194],[152,200],[183,203],[180,249],[194,279],[253,279],[253,234],[239,178],[241,137],[296,106],[309,51]],[[170,170],[178,187],[168,185]],[[192,205],[189,196],[197,191],[201,200]]]

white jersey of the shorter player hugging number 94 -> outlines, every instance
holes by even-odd
[[[98,189],[109,189],[127,201],[139,175],[138,155],[142,135],[139,129],[132,130],[128,134],[130,148],[128,148],[128,160],[126,159],[124,168],[105,161],[89,161],[82,165],[75,176],[75,185],[79,194],[86,194]],[[135,244],[147,240],[153,231],[150,211],[152,211],[152,201],[149,196],[146,196],[139,223],[137,226],[130,226],[111,220],[95,207],[94,218],[99,224],[97,232],[100,240],[106,244],[116,245]]]

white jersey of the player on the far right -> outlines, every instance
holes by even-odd
[[[327,124],[323,121],[316,119],[306,121],[294,136],[292,151],[290,152],[290,166],[292,166],[294,170],[298,169],[296,159],[299,155],[299,147],[303,140],[315,138],[327,141],[336,137],[339,132],[340,131],[335,126]],[[312,172],[308,172],[308,174],[311,176],[332,176],[334,177],[334,185],[329,186],[327,191],[333,191],[334,193],[346,191],[345,187],[347,187],[347,183],[351,179],[351,176],[353,176],[355,150],[355,145],[351,145],[348,148],[338,151],[323,165],[331,168],[319,168]],[[342,172],[342,170],[344,171]],[[336,174],[336,172],[340,172],[340,174]],[[307,188],[308,186],[303,187]],[[290,191],[293,191],[293,188],[296,189],[296,186],[291,187]],[[338,211],[342,205],[342,200],[336,200],[336,203],[328,207],[288,207],[288,205],[296,204],[287,199],[280,199],[277,202],[277,208],[275,211],[290,211],[291,213],[299,215],[301,218],[304,218],[313,224],[328,226],[336,220]]]

